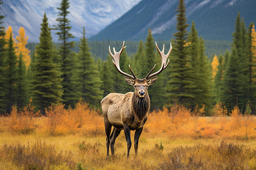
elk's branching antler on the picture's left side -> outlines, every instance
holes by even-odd
[[[113,64],[114,64],[115,68],[117,69],[117,71],[118,71],[119,73],[121,73],[121,74],[123,74],[123,75],[125,75],[125,76],[127,76],[127,77],[129,77],[129,78],[135,80],[135,79],[137,79],[137,77],[135,76],[135,74],[134,74],[133,71],[131,70],[130,65],[129,65],[129,69],[130,69],[130,71],[131,71],[131,74],[133,74],[133,76],[130,75],[130,74],[127,74],[127,73],[123,72],[123,71],[120,69],[120,65],[119,65],[120,55],[121,55],[123,49],[125,49],[125,48],[126,48],[126,46],[125,46],[125,41],[123,41],[123,46],[122,46],[121,50],[119,50],[119,52],[115,52],[115,48],[113,47],[114,54],[112,54],[112,52],[111,52],[111,50],[110,50],[110,45],[109,45],[109,54],[110,54],[110,56],[113,58]]]

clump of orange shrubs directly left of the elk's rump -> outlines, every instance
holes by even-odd
[[[80,100],[74,109],[65,109],[63,104],[52,104],[46,109],[46,126],[42,131],[50,135],[67,135],[81,132],[85,135],[104,134],[100,114]]]

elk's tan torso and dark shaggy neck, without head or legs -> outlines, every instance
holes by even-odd
[[[135,130],[145,123],[143,120],[147,118],[150,98],[145,95],[140,99],[133,92],[127,94],[112,93],[101,101],[101,107],[104,118],[110,124],[118,125],[119,129],[123,129],[123,123],[127,123],[131,129]]]

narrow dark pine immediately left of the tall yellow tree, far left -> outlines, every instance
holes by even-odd
[[[6,49],[6,99],[7,108],[6,112],[11,112],[11,107],[16,104],[17,101],[17,81],[18,81],[18,61],[15,55],[13,34],[10,33],[10,37]]]

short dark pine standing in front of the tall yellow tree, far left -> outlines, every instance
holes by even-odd
[[[18,61],[18,81],[17,81],[17,107],[22,109],[26,104],[28,104],[28,90],[27,90],[27,71],[26,65],[23,60],[22,53],[19,54]]]

